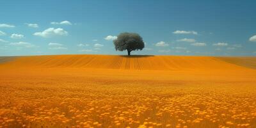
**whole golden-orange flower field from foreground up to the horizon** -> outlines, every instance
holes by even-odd
[[[256,58],[0,57],[0,127],[256,127]]]

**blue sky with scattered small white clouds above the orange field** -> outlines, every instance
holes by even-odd
[[[256,1],[0,1],[0,56],[127,54],[122,32],[139,33],[131,54],[255,56]]]

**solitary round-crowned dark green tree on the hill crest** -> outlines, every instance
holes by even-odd
[[[127,50],[128,56],[131,55],[131,51],[142,50],[144,48],[144,42],[140,35],[137,33],[120,33],[116,40],[113,40],[116,51]]]

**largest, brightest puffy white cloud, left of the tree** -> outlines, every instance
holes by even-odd
[[[68,32],[65,31],[62,28],[56,28],[56,29],[48,28],[48,29],[45,29],[42,32],[36,32],[33,35],[35,35],[35,36],[42,36],[42,37],[50,37],[50,36],[54,36],[54,35],[62,36],[62,35],[68,35]]]

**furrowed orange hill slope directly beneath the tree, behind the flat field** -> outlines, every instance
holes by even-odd
[[[52,55],[3,58],[0,67],[71,67],[125,70],[237,70],[255,68],[256,58],[216,58],[205,56],[111,56]]]

